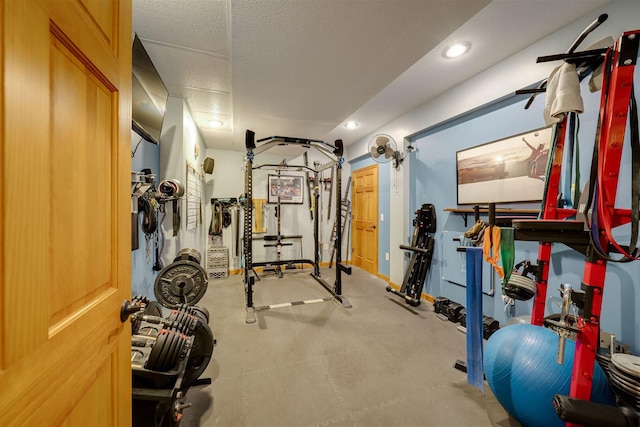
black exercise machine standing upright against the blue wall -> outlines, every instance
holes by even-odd
[[[387,286],[387,292],[394,293],[413,307],[420,305],[422,287],[431,267],[434,238],[436,231],[436,209],[430,203],[423,204],[416,212],[413,220],[413,238],[411,246],[400,245],[400,249],[410,251],[411,261],[402,281],[400,290]]]

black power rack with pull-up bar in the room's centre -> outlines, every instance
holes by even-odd
[[[256,144],[257,142],[257,144]],[[253,262],[252,259],[252,247],[253,247],[253,170],[254,169],[271,169],[271,170],[281,170],[282,168],[290,168],[292,166],[286,164],[265,164],[265,165],[254,165],[254,158],[256,154],[263,153],[270,148],[277,146],[298,146],[304,149],[314,148],[326,158],[328,158],[328,162],[320,165],[318,168],[311,168],[307,165],[304,166],[294,166],[297,170],[308,171],[314,174],[314,182],[318,182],[318,173],[322,172],[329,168],[336,168],[336,188],[339,190],[342,186],[342,164],[344,163],[344,158],[342,156],[344,151],[344,146],[342,144],[342,140],[338,139],[335,141],[335,145],[331,145],[326,143],[325,141],[317,140],[317,139],[306,139],[306,138],[292,138],[285,136],[271,136],[268,138],[255,140],[255,132],[251,130],[246,131],[245,135],[245,146],[247,149],[247,153],[244,159],[244,173],[245,173],[245,181],[244,181],[244,286],[245,286],[245,302],[246,302],[246,323],[254,323],[256,321],[255,315],[255,307],[253,306],[253,285],[255,283],[255,272],[253,271],[254,267],[264,266],[264,265],[285,265],[291,262],[294,263],[306,263],[313,265],[313,272],[311,273],[311,277],[313,277],[318,283],[320,283],[336,300],[342,303],[342,306],[345,308],[350,308],[351,304],[349,301],[342,296],[342,276],[341,274],[344,272],[346,274],[351,274],[351,267],[347,267],[342,264],[342,255],[341,251],[336,251],[336,269],[335,269],[335,281],[333,287],[330,286],[324,279],[320,277],[320,251],[319,251],[319,215],[318,215],[318,199],[320,197],[319,192],[316,188],[314,191],[314,211],[315,215],[313,216],[313,235],[314,235],[314,259],[299,259],[299,260],[281,260],[278,259],[276,261],[270,262]],[[334,247],[341,248],[342,247],[342,224],[340,218],[340,191],[335,192],[336,195],[336,221],[337,228],[335,234],[335,241],[332,242]],[[278,213],[280,215],[280,213]],[[276,238],[280,238],[280,236],[276,236]],[[253,274],[252,274],[253,273]]]

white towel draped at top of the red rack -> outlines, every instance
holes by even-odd
[[[583,111],[576,66],[565,62],[556,67],[547,80],[547,99],[543,113],[545,123],[547,126],[558,123],[567,113]]]

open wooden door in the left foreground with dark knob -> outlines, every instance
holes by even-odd
[[[131,4],[0,21],[0,426],[130,425]]]

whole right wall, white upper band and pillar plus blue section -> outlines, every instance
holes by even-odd
[[[466,228],[460,215],[448,214],[443,211],[447,207],[456,206],[455,185],[455,152],[461,148],[468,148],[520,132],[526,132],[542,126],[540,109],[544,102],[541,96],[536,100],[532,109],[524,111],[522,102],[520,105],[501,105],[495,111],[482,111],[475,115],[467,116],[471,111],[477,111],[487,103],[497,99],[511,96],[515,90],[534,85],[537,81],[549,76],[551,70],[558,64],[536,63],[535,58],[541,55],[549,55],[564,51],[596,17],[607,13],[609,19],[598,27],[584,41],[588,46],[606,36],[617,39],[623,32],[638,28],[638,1],[637,0],[612,0],[597,10],[592,11],[583,18],[565,25],[562,29],[542,38],[532,41],[530,46],[520,50],[509,58],[491,66],[485,71],[469,78],[454,88],[447,90],[436,98],[426,102],[415,109],[398,116],[384,126],[376,129],[371,134],[363,136],[358,141],[348,146],[347,159],[358,159],[368,156],[368,141],[378,133],[395,135],[396,141],[404,136],[411,139],[419,135],[417,139],[420,151],[410,155],[400,167],[399,189],[391,192],[390,239],[405,242],[412,231],[410,221],[405,218],[412,216],[412,212],[421,203],[434,203],[438,213],[438,233],[444,229],[464,231]],[[464,66],[465,59],[452,62],[451,67]],[[636,81],[638,79],[636,78]],[[589,98],[583,91],[583,97]],[[596,103],[598,101],[596,100]],[[593,108],[593,100],[586,99],[588,108]],[[500,111],[504,110],[504,111]],[[463,117],[460,119],[460,117]],[[452,120],[458,118],[452,123]],[[468,122],[468,123],[467,123]],[[441,126],[449,123],[448,126]],[[425,129],[431,129],[430,133],[424,133]],[[583,115],[582,117],[582,148],[583,163],[589,163],[589,146],[593,143],[595,132],[595,117]],[[581,156],[582,157],[582,156]],[[628,154],[624,155],[628,158]],[[583,180],[588,167],[583,166]],[[629,163],[622,165],[622,175],[628,176]],[[393,173],[391,175],[394,187]],[[624,189],[623,189],[624,188]],[[408,193],[408,194],[407,194]],[[625,187],[625,179],[621,178],[619,194],[628,197],[628,184]],[[620,200],[628,206],[628,198]],[[523,205],[520,207],[531,207]],[[470,226],[470,224],[468,224]],[[628,231],[626,231],[628,233]],[[458,285],[445,283],[441,280],[441,265],[445,261],[442,256],[442,238],[436,233],[436,253],[434,255],[432,271],[425,285],[425,291],[431,295],[445,295],[464,301],[464,288]],[[627,239],[628,241],[628,239]],[[383,244],[382,242],[380,243]],[[518,242],[518,254],[520,259],[537,258],[537,245],[531,242]],[[391,245],[391,250],[397,247],[397,243]],[[457,256],[459,258],[459,256]],[[452,257],[454,259],[455,257]],[[391,257],[390,278],[395,283],[402,280],[405,272],[406,260],[404,257]],[[557,294],[557,285],[561,282],[579,285],[582,279],[584,262],[581,256],[573,253],[562,244],[554,245],[550,278],[554,281],[549,286],[549,294]],[[640,263],[634,262],[628,265],[610,264],[607,270],[607,282],[605,287],[602,329],[617,335],[618,339],[630,344],[635,352],[640,350],[640,324],[639,316],[635,314],[633,307],[640,303],[638,294],[640,290],[635,288],[640,284]],[[484,297],[486,314],[494,315],[499,320],[504,320],[501,298]],[[551,304],[551,303],[550,303]],[[530,311],[528,303],[517,303],[515,314],[523,314]],[[550,306],[550,310],[557,309]]]

